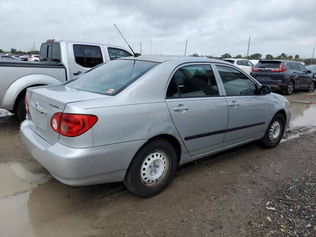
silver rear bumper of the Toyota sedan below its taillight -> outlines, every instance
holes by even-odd
[[[146,140],[91,148],[71,148],[48,143],[29,126],[21,123],[22,142],[31,155],[57,180],[72,186],[123,181],[130,161]]]

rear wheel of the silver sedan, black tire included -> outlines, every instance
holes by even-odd
[[[165,166],[163,168],[161,168],[162,166],[158,166],[160,170],[163,170],[163,173],[160,175],[161,178],[159,177],[156,180],[150,181],[150,176],[148,176],[148,179],[146,178],[147,174],[149,174],[149,170],[150,173],[153,171],[152,168],[149,168],[152,167],[152,165],[150,166],[150,164],[153,164],[154,160],[156,159],[156,153],[161,154],[160,152],[164,154],[162,158],[160,156],[160,159],[163,159],[163,157],[165,157]],[[156,154],[156,156],[153,155],[154,158],[150,160],[152,154]],[[147,162],[147,160],[149,161]],[[144,164],[148,165],[148,167],[145,168]],[[126,171],[124,185],[127,189],[129,189],[129,191],[141,197],[151,197],[157,195],[158,193],[162,192],[171,181],[176,170],[176,165],[177,154],[174,147],[166,140],[157,138],[145,144],[136,153]],[[156,172],[156,165],[154,169],[154,171]],[[145,181],[143,180],[145,172],[147,173],[145,179],[147,179],[149,183],[145,183]],[[141,177],[141,175],[144,176]],[[153,186],[150,186],[151,182],[154,182]]]

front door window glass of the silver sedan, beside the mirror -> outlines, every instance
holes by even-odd
[[[216,65],[217,71],[223,81],[226,95],[253,95],[256,86],[246,75],[234,68]]]

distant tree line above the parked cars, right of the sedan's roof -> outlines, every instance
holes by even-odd
[[[193,57],[206,57],[206,58],[212,58],[212,59],[224,59],[224,58],[243,58],[243,59],[247,59],[247,56],[242,56],[241,54],[236,55],[235,57],[232,57],[232,55],[230,55],[229,53],[224,53],[223,55],[221,55],[220,57],[215,57],[213,55],[199,55],[197,53],[191,54],[190,56]],[[311,58],[300,58],[300,55],[296,54],[294,57],[292,55],[287,55],[285,53],[281,53],[280,55],[274,57],[272,54],[267,54],[266,56],[263,57],[263,55],[261,53],[254,53],[251,54],[250,56],[248,56],[248,60],[251,59],[256,59],[256,60],[262,60],[262,59],[266,59],[266,60],[273,60],[273,59],[283,59],[283,60],[295,60],[295,61],[300,61],[300,62],[304,62],[305,64],[316,64],[316,58],[313,58],[313,60]]]

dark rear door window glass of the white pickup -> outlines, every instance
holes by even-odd
[[[75,61],[85,68],[93,68],[103,63],[101,48],[99,46],[74,44]]]

